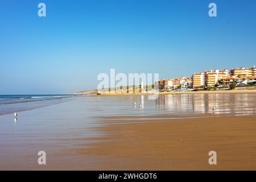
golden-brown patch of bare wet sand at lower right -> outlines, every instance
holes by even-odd
[[[129,122],[127,117],[117,117],[114,122],[104,117],[105,126],[98,130],[106,137],[90,138],[94,143],[85,144],[76,152],[104,156],[93,167],[102,170],[256,169],[256,116],[176,121],[165,116],[161,121]],[[217,152],[217,165],[209,165],[209,151]]]

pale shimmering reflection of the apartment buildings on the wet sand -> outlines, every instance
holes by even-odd
[[[182,94],[159,96],[159,110],[177,113],[255,114],[254,94]],[[214,108],[214,111],[213,111]]]

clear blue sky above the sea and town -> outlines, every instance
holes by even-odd
[[[0,94],[92,89],[110,68],[169,78],[256,64],[254,0],[9,0],[0,23]]]

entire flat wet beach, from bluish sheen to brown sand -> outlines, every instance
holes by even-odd
[[[19,111],[18,121],[13,114],[0,115],[0,169],[256,169],[255,93],[46,102]],[[7,106],[13,105],[19,106]],[[38,151],[46,151],[46,166],[38,165]],[[217,165],[209,165],[209,151],[217,152]]]

